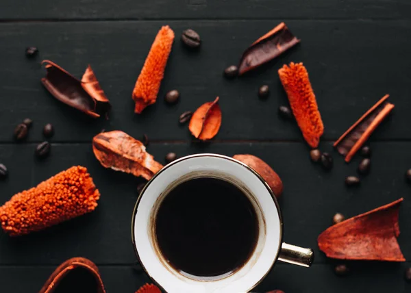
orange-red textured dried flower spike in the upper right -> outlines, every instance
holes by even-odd
[[[289,66],[280,68],[278,75],[304,139],[312,148],[316,148],[323,135],[324,125],[306,67],[302,63],[291,62]]]

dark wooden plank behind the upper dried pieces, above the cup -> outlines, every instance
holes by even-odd
[[[177,40],[158,102],[141,115],[134,114],[132,89],[153,36],[165,22],[79,22],[1,24],[0,142],[12,141],[14,126],[34,119],[29,140],[42,140],[46,123],[55,125],[54,141],[89,142],[101,129],[122,129],[136,138],[147,133],[155,140],[189,140],[178,116],[206,101],[221,97],[223,124],[219,140],[302,140],[295,123],[277,115],[287,102],[277,77],[284,63],[303,61],[325,123],[324,139],[335,140],[384,94],[397,107],[373,138],[411,139],[411,90],[408,48],[410,21],[289,21],[302,43],[241,79],[227,81],[223,69],[238,62],[242,51],[278,21],[172,21]],[[193,27],[203,38],[201,51],[188,52],[178,34]],[[395,31],[395,33],[393,33]],[[27,45],[37,45],[40,56],[27,60]],[[53,99],[40,84],[45,70],[38,62],[53,60],[81,77],[87,64],[95,69],[101,87],[112,101],[110,120],[93,120]],[[269,84],[266,101],[257,97]],[[164,94],[177,88],[181,101],[169,107]]]

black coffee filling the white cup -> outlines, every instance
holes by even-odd
[[[198,178],[175,187],[160,204],[155,236],[164,258],[185,275],[229,275],[251,256],[258,220],[232,183]]]

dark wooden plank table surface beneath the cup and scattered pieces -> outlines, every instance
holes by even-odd
[[[160,162],[173,151],[251,153],[269,163],[284,181],[280,201],[284,240],[312,247],[312,268],[277,264],[256,291],[410,292],[403,280],[410,263],[349,263],[351,275],[336,277],[316,238],[334,213],[347,217],[405,198],[400,209],[399,244],[411,257],[411,187],[403,178],[411,168],[411,2],[409,0],[3,0],[0,3],[0,162],[10,176],[0,182],[0,202],[36,186],[73,165],[86,166],[101,191],[99,207],[47,231],[21,238],[0,233],[0,292],[38,292],[55,267],[70,257],[88,257],[101,270],[110,293],[132,293],[149,278],[134,270],[130,222],[142,182],[100,166],[91,139],[101,129],[119,129],[135,138],[147,133],[149,152]],[[236,64],[244,49],[279,22],[286,21],[301,44],[277,60],[240,79],[227,81],[223,69]],[[176,33],[158,102],[134,114],[132,89],[153,38],[162,25]],[[192,28],[201,50],[184,49],[179,34]],[[27,60],[25,47],[40,54]],[[56,101],[40,84],[40,61],[52,60],[77,77],[87,64],[95,70],[112,103],[110,120],[92,120]],[[285,63],[304,62],[325,124],[321,149],[334,156],[325,173],[310,162],[309,148],[296,123],[285,122],[277,107],[287,103],[277,76]],[[257,90],[271,88],[262,101]],[[169,107],[164,94],[181,92]],[[384,94],[393,114],[371,138],[371,174],[357,189],[344,179],[356,173],[358,156],[345,164],[332,142]],[[221,98],[223,124],[212,142],[194,142],[178,116]],[[12,131],[23,118],[34,126],[25,143]],[[52,153],[34,157],[42,126],[52,123]]]

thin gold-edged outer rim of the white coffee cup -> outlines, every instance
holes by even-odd
[[[137,214],[137,209],[138,209],[138,205],[140,204],[140,200],[142,199],[142,195],[145,193],[145,190],[147,190],[148,186],[155,180],[155,178],[157,178],[161,173],[164,172],[164,170],[170,168],[171,166],[174,166],[175,164],[178,164],[179,162],[185,161],[185,160],[189,160],[192,159],[194,157],[219,157],[221,159],[225,159],[225,160],[229,160],[232,162],[235,162],[236,164],[239,164],[240,166],[244,166],[245,168],[247,168],[251,173],[253,173],[253,175],[256,175],[256,177],[258,179],[260,179],[260,181],[264,184],[264,186],[266,187],[267,191],[269,192],[269,194],[271,195],[271,199],[273,200],[275,207],[277,208],[277,213],[278,213],[278,217],[279,217],[279,246],[277,249],[277,254],[275,255],[275,258],[273,259],[273,263],[271,264],[270,268],[266,271],[266,273],[261,277],[261,279],[256,282],[251,288],[247,289],[247,292],[249,292],[250,290],[253,290],[253,288],[256,288],[257,285],[259,285],[262,280],[265,279],[265,277],[269,274],[269,272],[271,272],[271,270],[273,269],[273,266],[275,265],[275,263],[277,262],[278,258],[279,258],[279,253],[281,251],[282,248],[282,243],[283,243],[283,236],[284,236],[284,223],[283,223],[283,219],[282,219],[282,212],[281,209],[279,207],[277,198],[275,197],[275,194],[273,192],[273,190],[271,189],[271,187],[269,186],[269,184],[264,180],[264,178],[262,178],[262,176],[260,174],[258,174],[256,172],[256,170],[254,170],[253,168],[251,168],[250,166],[248,166],[247,164],[240,162],[239,160],[234,159],[233,157],[228,157],[227,155],[220,155],[220,154],[216,154],[216,153],[198,153],[198,154],[194,154],[194,155],[186,155],[184,157],[180,157],[179,159],[167,164],[166,166],[164,166],[161,170],[158,171],[158,173],[155,173],[155,175],[153,175],[153,177],[151,177],[151,179],[149,181],[147,181],[145,187],[141,190],[140,194],[138,194],[138,199],[136,201],[136,204],[134,205],[134,209],[133,209],[133,214],[132,214],[132,244],[133,244],[133,249],[134,249],[134,253],[136,254],[136,257],[138,259],[138,263],[140,264],[141,268],[144,270],[145,274],[147,276],[150,277],[150,279],[156,284],[158,285],[158,287],[160,287],[162,290],[164,290],[164,288],[162,288],[162,285],[160,285],[155,279],[153,279],[153,277],[151,277],[151,275],[149,274],[149,272],[147,271],[147,269],[145,268],[144,264],[142,264],[141,259],[140,259],[140,255],[138,254],[137,251],[137,246],[136,246],[136,237],[134,235],[134,227],[136,225],[136,214]]]

